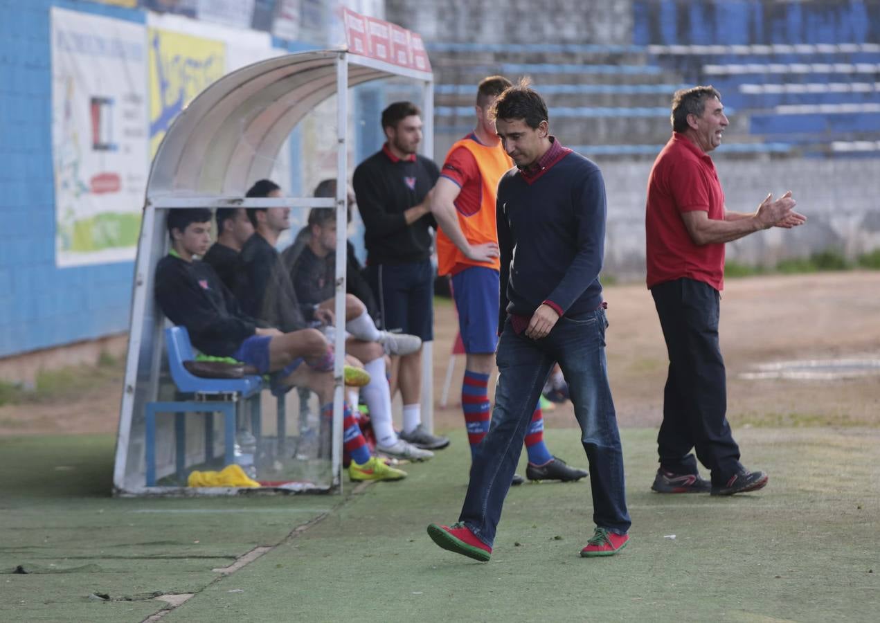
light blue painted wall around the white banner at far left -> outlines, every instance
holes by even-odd
[[[133,262],[55,268],[52,6],[146,19],[91,2],[0,0],[0,357],[128,328]]]

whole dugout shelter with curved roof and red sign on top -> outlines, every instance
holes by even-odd
[[[158,148],[150,170],[137,248],[114,464],[116,495],[229,495],[240,490],[238,487],[187,487],[186,480],[180,478],[181,465],[184,475],[194,468],[219,470],[224,467],[223,414],[156,414],[155,429],[148,435],[145,417],[148,406],[160,400],[180,399],[180,388],[169,370],[165,344],[165,328],[171,325],[158,309],[153,295],[157,262],[168,252],[167,211],[195,207],[335,208],[338,231],[335,316],[341,319],[345,317],[349,88],[388,77],[404,77],[421,85],[422,150],[428,155],[433,153],[433,76],[421,39],[397,26],[356,16],[350,11],[343,17],[348,48],[278,56],[222,77],[180,113]],[[379,27],[382,25],[385,25],[387,39],[371,39],[370,33],[383,34]],[[395,48],[394,41],[400,43],[401,36],[407,46]],[[382,47],[383,41],[386,48]],[[337,96],[336,197],[246,199],[246,190],[255,180],[271,176],[275,158],[297,123],[334,95]],[[423,412],[430,426],[430,344],[425,346]],[[283,438],[282,414],[275,438],[261,435],[259,428],[253,431],[258,437],[260,453],[256,479],[266,482],[266,487],[295,491],[341,488],[344,350],[344,332],[337,331],[330,456],[303,461],[291,455],[285,443],[287,439]],[[289,405],[296,394],[288,394]],[[263,403],[275,404],[267,400]],[[267,429],[267,424],[275,421],[275,409],[264,407],[261,419],[262,429]],[[184,439],[182,444],[180,436]],[[155,457],[154,465],[150,466],[152,483],[148,482],[150,470],[146,460],[150,444]],[[208,460],[209,457],[212,460]],[[260,473],[266,469],[271,473]],[[292,473],[297,475],[291,476]]]

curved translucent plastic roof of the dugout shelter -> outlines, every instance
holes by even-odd
[[[341,61],[348,65],[342,83],[348,87],[394,76],[433,80],[430,72],[331,50],[279,56],[234,71],[174,121],[153,161],[148,202],[168,195],[245,194],[250,180],[268,177],[297,122],[337,92]],[[426,123],[432,113],[424,111]]]

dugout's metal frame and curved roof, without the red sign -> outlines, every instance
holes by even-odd
[[[334,312],[345,318],[348,180],[348,87],[406,77],[422,84],[424,141],[433,153],[433,75],[346,49],[283,55],[256,62],[222,77],[180,113],[159,145],[150,169],[132,292],[128,357],[114,463],[115,495],[230,495],[238,487],[147,487],[144,409],[158,399],[165,360],[162,328],[167,322],[153,297],[158,260],[167,253],[165,210],[179,208],[335,208],[337,224]],[[336,197],[245,198],[246,188],[268,177],[290,131],[324,100],[338,94],[336,110]],[[379,120],[377,119],[378,123]],[[345,332],[335,332],[332,485],[341,490],[342,365]],[[431,344],[424,346],[422,413],[432,428]],[[167,388],[166,388],[167,389]],[[173,418],[156,422],[157,443],[173,438]],[[207,442],[205,442],[207,443]],[[174,452],[171,453],[172,455]],[[173,460],[157,465],[174,472]],[[161,475],[161,473],[159,474]]]

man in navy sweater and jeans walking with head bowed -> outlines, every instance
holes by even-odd
[[[550,136],[546,104],[528,83],[503,92],[493,116],[504,150],[517,165],[498,184],[501,339],[495,409],[473,458],[458,523],[431,524],[428,533],[444,549],[489,560],[532,406],[559,362],[590,462],[596,529],[581,555],[612,555],[627,545],[630,520],[598,281],[605,183],[598,166]]]

